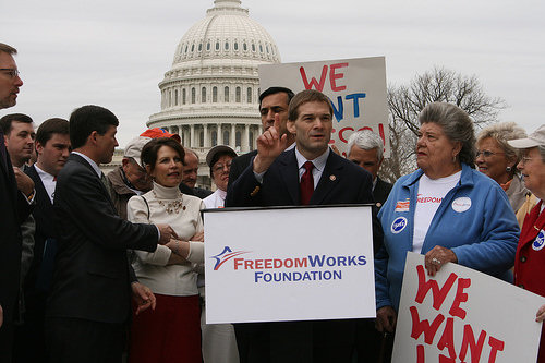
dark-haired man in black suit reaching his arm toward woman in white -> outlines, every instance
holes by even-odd
[[[144,307],[155,302],[149,290],[131,283],[126,250],[153,252],[175,237],[167,225],[133,225],[118,216],[99,169],[118,146],[118,124],[98,106],[70,117],[74,152],[59,172],[53,203],[59,241],[46,313],[52,362],[121,362],[131,288]]]

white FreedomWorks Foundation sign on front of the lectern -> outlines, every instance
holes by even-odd
[[[370,206],[205,213],[206,320],[375,316]]]

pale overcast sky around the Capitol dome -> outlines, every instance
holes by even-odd
[[[8,3],[5,4],[8,5]],[[0,41],[17,48],[17,106],[39,124],[87,104],[120,119],[121,146],[160,111],[158,83],[213,0],[17,0]],[[538,0],[243,0],[282,62],[385,56],[389,84],[434,65],[476,75],[528,132],[545,123],[545,2]]]

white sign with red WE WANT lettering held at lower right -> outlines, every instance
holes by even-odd
[[[409,252],[392,362],[535,362],[545,299],[511,283],[446,264],[427,275]]]

